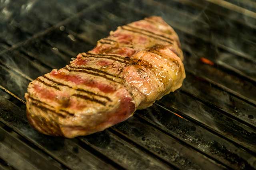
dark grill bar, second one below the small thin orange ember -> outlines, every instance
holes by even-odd
[[[145,122],[139,121],[136,117],[123,124],[116,125],[114,131],[180,169],[200,169],[203,166],[210,167],[209,170],[223,169],[222,166],[213,164],[208,159],[202,159],[202,155],[198,152],[191,150],[190,147],[187,148],[181,145],[176,139],[165,135]],[[184,164],[180,164],[180,162],[184,162]]]

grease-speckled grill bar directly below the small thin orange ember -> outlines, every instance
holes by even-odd
[[[236,169],[243,164],[250,167],[246,162],[246,157],[250,158],[250,154],[247,155],[248,153],[238,149],[236,145],[211,134],[196,122],[188,121],[162,106],[156,104],[145,111],[139,111],[139,114],[135,116],[158,127],[160,131],[190,145],[193,149],[206,154],[206,156],[224,166],[228,165]],[[172,122],[171,125],[170,121]],[[232,155],[232,159],[227,158],[227,155]]]

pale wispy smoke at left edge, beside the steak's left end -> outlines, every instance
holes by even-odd
[[[49,71],[17,51],[7,52],[0,57],[0,85],[23,100],[28,83]]]

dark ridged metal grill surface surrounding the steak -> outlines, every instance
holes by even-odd
[[[180,37],[180,90],[85,137],[30,127],[30,81],[152,15]],[[1,0],[0,19],[0,170],[256,169],[254,1]]]

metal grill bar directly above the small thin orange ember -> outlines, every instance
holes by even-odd
[[[161,102],[161,104],[169,109],[174,109],[175,112],[180,111],[178,113],[182,113],[182,116],[188,116],[190,119],[192,118],[194,121],[202,123],[205,128],[208,130],[211,129],[222,138],[229,139],[236,143],[236,145],[241,145],[244,149],[248,148],[249,151],[252,150],[255,152],[255,141],[252,141],[253,138],[251,138],[254,137],[255,134],[253,129],[226,117],[226,115],[218,113],[218,111],[215,111],[210,107],[202,105],[201,102],[195,101],[182,93],[168,99],[169,101],[172,101],[171,104],[167,102]],[[167,98],[165,98],[165,100],[167,100]],[[181,100],[188,101],[188,103],[186,103],[188,105],[184,106],[185,104],[178,103]],[[232,129],[230,129],[231,127]],[[234,133],[234,131],[236,131],[236,133]]]

